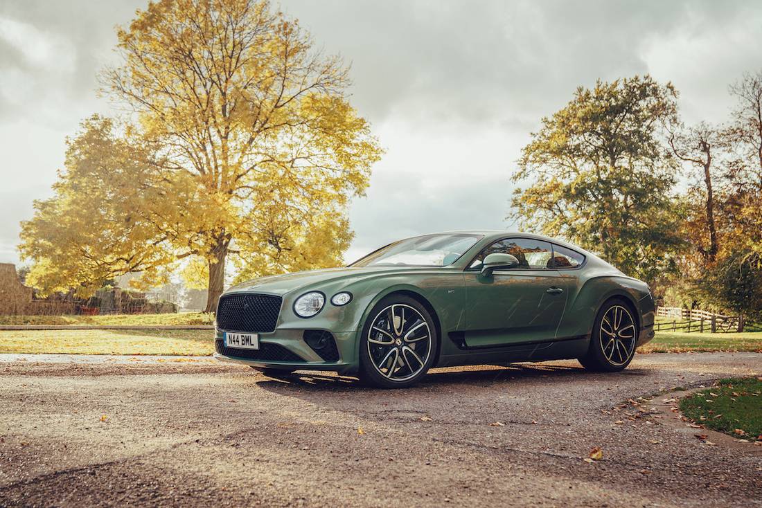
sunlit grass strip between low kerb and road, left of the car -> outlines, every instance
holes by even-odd
[[[211,330],[0,331],[0,353],[210,355]]]

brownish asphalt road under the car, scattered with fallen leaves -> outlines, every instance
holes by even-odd
[[[652,409],[666,395],[626,402],[728,375],[762,375],[762,355],[444,369],[400,391],[204,361],[6,359],[0,506],[762,506],[762,447],[696,439]]]

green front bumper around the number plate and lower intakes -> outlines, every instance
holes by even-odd
[[[338,361],[327,362],[304,340],[304,329],[275,330],[258,334],[260,350],[239,350],[223,346],[223,331],[216,331],[214,357],[219,360],[243,363],[267,369],[334,370],[355,372],[357,370],[357,333],[332,332]],[[252,357],[254,356],[254,357]]]

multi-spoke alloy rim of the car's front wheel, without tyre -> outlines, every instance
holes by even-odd
[[[431,355],[431,329],[410,305],[383,308],[371,321],[368,353],[373,366],[386,379],[407,381],[424,369]]]

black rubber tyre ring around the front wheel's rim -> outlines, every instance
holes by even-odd
[[[392,379],[384,377],[373,365],[373,361],[370,359],[370,353],[368,352],[368,332],[373,325],[373,320],[376,318],[376,315],[378,315],[383,308],[398,303],[409,305],[410,307],[415,308],[416,311],[420,312],[426,320],[429,331],[431,332],[431,353],[429,353],[429,356],[424,363],[424,368],[421,369],[421,372],[418,372],[415,377],[405,381],[393,381]],[[385,296],[376,303],[376,305],[373,305],[373,308],[370,309],[370,312],[367,315],[365,323],[363,323],[362,334],[360,335],[360,379],[369,385],[377,386],[379,388],[406,388],[410,385],[414,385],[426,375],[428,369],[431,369],[431,366],[434,364],[434,358],[437,356],[437,350],[439,350],[439,334],[437,334],[437,327],[434,325],[434,318],[431,317],[431,314],[426,310],[424,305],[421,305],[418,300],[405,295]]]

